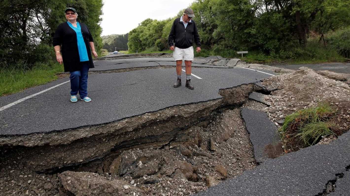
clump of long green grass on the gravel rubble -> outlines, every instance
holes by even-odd
[[[314,145],[321,136],[334,134],[332,132],[334,125],[328,122],[334,114],[335,111],[328,104],[320,104],[290,114],[286,116],[279,129],[281,139],[285,144],[299,141],[304,146]]]

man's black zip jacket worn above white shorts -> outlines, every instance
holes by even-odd
[[[180,18],[176,18],[172,30],[170,31],[168,43],[169,46],[175,46],[178,48],[188,48],[193,45],[193,39],[196,42],[197,47],[201,46],[201,40],[199,38],[196,23],[193,19],[185,26],[180,22]]]

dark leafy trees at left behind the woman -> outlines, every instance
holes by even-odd
[[[1,0],[0,67],[53,60],[52,35],[58,24],[65,21],[66,7],[77,9],[78,20],[89,27],[99,50],[102,5],[102,0]]]

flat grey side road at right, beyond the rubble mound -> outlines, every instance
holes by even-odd
[[[271,65],[273,67],[297,70],[300,67],[308,67],[315,71],[329,70],[342,74],[350,74],[350,63],[319,63],[298,65]]]

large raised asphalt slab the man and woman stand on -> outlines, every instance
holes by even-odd
[[[71,103],[70,83],[65,83],[1,111],[0,136],[98,125],[170,106],[218,99],[221,98],[219,89],[258,82],[261,78],[269,77],[243,68],[193,68],[193,74],[202,78],[192,76],[194,90],[189,90],[184,85],[173,88],[176,74],[172,68],[91,74],[88,93],[92,102]],[[183,79],[185,80],[184,72]],[[0,108],[65,81],[69,81],[69,78],[0,97]]]

